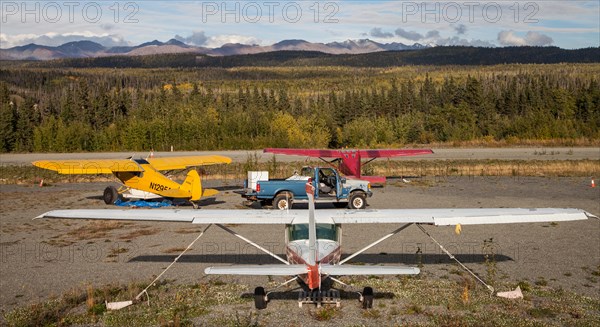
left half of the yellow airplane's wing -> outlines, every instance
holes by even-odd
[[[90,159],[90,160],[41,160],[32,164],[59,174],[112,174],[118,171],[144,171],[135,161],[129,159]]]

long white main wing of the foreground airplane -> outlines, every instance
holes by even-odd
[[[316,210],[317,223],[394,224],[435,226],[539,223],[584,220],[594,215],[580,209],[482,208],[482,209],[382,209]],[[190,210],[190,209],[80,209],[54,210],[37,218],[114,219],[188,222],[194,224],[294,224],[308,223],[307,210]]]

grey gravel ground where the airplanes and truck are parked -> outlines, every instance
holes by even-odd
[[[451,177],[389,180],[375,188],[371,208],[573,207],[600,215],[600,187],[587,178]],[[210,181],[221,193],[204,208],[244,208],[232,192],[240,181]],[[0,305],[3,312],[86,285],[128,284],[158,275],[201,231],[185,223],[120,223],[33,220],[53,209],[110,208],[101,200],[109,183],[0,186]],[[302,205],[297,205],[302,208]],[[317,207],[334,210],[328,205]],[[160,210],[160,209],[156,209]],[[200,209],[202,210],[202,209]],[[248,209],[252,210],[252,209]],[[393,225],[346,225],[343,250],[353,253],[394,230]],[[600,221],[558,224],[425,227],[446,249],[481,276],[486,275],[484,241],[492,240],[497,278],[543,280],[550,287],[600,296]],[[280,226],[239,226],[242,235],[284,253]],[[418,249],[423,253],[418,256]],[[422,263],[422,274],[442,277],[460,269],[411,226],[353,259],[355,263]],[[196,283],[208,278],[205,267],[232,263],[275,263],[267,255],[212,227],[165,278]],[[254,286],[265,277],[224,277]],[[377,291],[377,290],[376,290]],[[293,300],[283,300],[293,302]],[[292,307],[293,307],[292,306]]]

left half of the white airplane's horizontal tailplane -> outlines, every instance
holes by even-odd
[[[207,275],[294,276],[306,274],[306,265],[231,265],[208,267]]]

